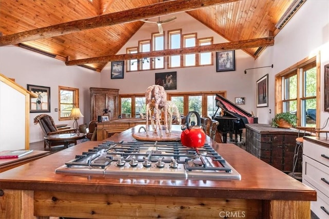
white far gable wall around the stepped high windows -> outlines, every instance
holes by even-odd
[[[171,17],[162,16],[160,19]],[[198,38],[213,37],[214,44],[226,43],[226,39],[218,35],[214,31],[207,28],[202,23],[196,21],[193,17],[186,13],[175,14],[177,19],[173,22],[163,25],[165,38],[167,38],[168,30],[181,29],[182,34],[197,33]],[[157,18],[154,18],[157,21]],[[153,20],[154,20],[153,19]],[[118,52],[125,54],[126,48],[138,46],[141,39],[150,39],[151,34],[158,32],[156,24],[145,23],[138,32],[130,39],[126,45]],[[165,42],[165,48],[168,49],[168,42]],[[246,104],[241,105],[248,112],[255,112],[253,78],[244,74],[245,68],[253,67],[254,59],[242,50],[235,51],[235,71],[216,72],[216,54],[214,53],[213,66],[206,67],[188,67],[124,72],[123,79],[111,79],[111,63],[109,63],[102,71],[101,86],[107,88],[119,88],[120,94],[123,93],[144,93],[145,90],[155,83],[155,73],[159,72],[177,72],[177,90],[169,90],[168,92],[195,92],[195,91],[228,91],[227,98],[234,102],[234,97],[246,97]],[[166,58],[167,61],[167,58]]]

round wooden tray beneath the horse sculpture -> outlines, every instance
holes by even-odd
[[[133,137],[138,141],[147,141],[147,142],[173,142],[180,141],[181,131],[171,131],[166,133],[165,130],[162,130],[162,136],[160,133],[154,133],[152,130],[149,131],[149,135],[146,135],[146,132],[134,133]]]

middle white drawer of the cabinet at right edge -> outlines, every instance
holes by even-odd
[[[306,180],[329,197],[329,167],[303,155],[303,182]]]

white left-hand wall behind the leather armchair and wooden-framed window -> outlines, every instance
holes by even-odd
[[[39,53],[16,46],[0,47],[0,72],[7,77],[15,78],[15,82],[27,88],[27,84],[50,87],[50,109],[56,124],[72,125],[72,121],[59,121],[58,86],[79,88],[79,106],[82,114],[79,124],[90,121],[89,87],[100,86],[99,72],[79,66],[66,66],[64,62]],[[43,133],[33,118],[40,113],[30,113],[30,142],[43,141]],[[3,122],[3,121],[2,121]],[[17,133],[12,133],[12,138]]]

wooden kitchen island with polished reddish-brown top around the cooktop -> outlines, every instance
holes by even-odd
[[[139,126],[111,137],[133,141]],[[241,180],[55,173],[84,142],[0,173],[0,218],[310,218],[316,191],[233,144],[207,141]]]

